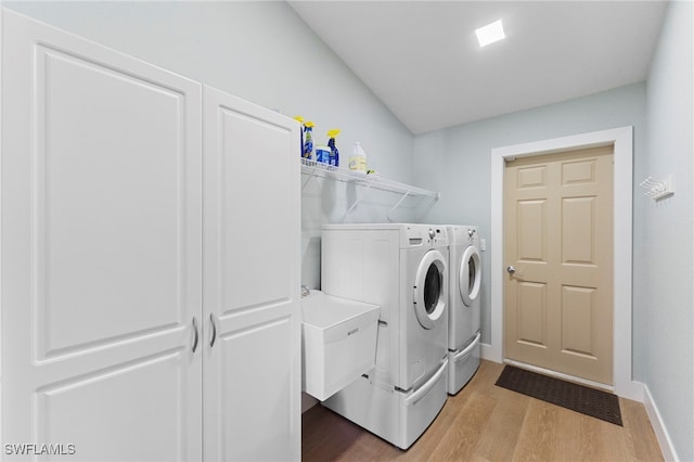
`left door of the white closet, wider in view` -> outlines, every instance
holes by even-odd
[[[201,86],[2,29],[2,442],[200,459]]]

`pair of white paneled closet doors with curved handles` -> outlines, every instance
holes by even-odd
[[[8,10],[2,48],[4,458],[299,459],[298,124]]]

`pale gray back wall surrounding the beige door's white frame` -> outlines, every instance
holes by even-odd
[[[441,198],[424,217],[429,222],[477,224],[487,240],[483,253],[481,331],[490,338],[491,150],[551,138],[634,127],[634,175],[645,171],[645,84],[633,84],[563,103],[474,121],[414,139],[415,181],[422,188],[440,188]],[[643,241],[642,221],[634,218],[634,242]],[[634,312],[634,326],[643,313]],[[639,330],[640,331],[640,330]],[[635,330],[634,330],[635,332]],[[639,371],[643,370],[640,365]]]

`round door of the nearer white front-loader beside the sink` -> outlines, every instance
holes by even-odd
[[[424,329],[432,329],[446,310],[446,259],[438,251],[424,255],[414,281],[414,312]]]

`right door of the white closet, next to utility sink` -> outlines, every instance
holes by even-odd
[[[203,113],[204,457],[299,460],[299,125],[208,87]]]

